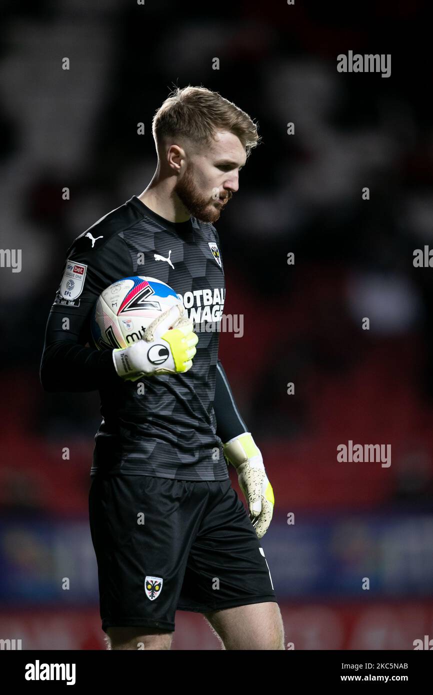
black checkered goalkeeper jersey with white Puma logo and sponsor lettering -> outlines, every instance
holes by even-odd
[[[91,475],[229,477],[213,408],[219,342],[215,327],[197,332],[197,354],[188,372],[142,377],[138,382],[118,377],[111,350],[95,350],[90,337],[92,309],[101,292],[133,275],[170,285],[196,325],[218,321],[225,295],[219,245],[211,224],[193,217],[169,222],[133,195],[68,250],[47,323],[41,380],[47,391],[99,389],[103,420],[95,437]],[[62,377],[66,361],[67,376]],[[223,379],[220,365],[218,370]],[[235,434],[246,430],[240,416],[233,428]]]

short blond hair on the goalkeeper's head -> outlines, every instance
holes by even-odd
[[[236,135],[247,157],[261,137],[250,116],[218,92],[205,87],[177,87],[158,108],[152,121],[156,149],[165,138],[188,138],[199,145],[210,145],[215,131]]]

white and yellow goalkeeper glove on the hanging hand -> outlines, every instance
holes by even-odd
[[[258,538],[269,528],[274,511],[274,492],[265,473],[263,458],[250,432],[243,432],[222,445],[224,457],[236,468],[240,489],[250,511]]]

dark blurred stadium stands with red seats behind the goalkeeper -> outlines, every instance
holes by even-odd
[[[22,249],[22,271],[0,269],[0,637],[104,648],[87,516],[99,398],[42,391],[44,325],[67,247],[147,186],[152,115],[188,83],[234,101],[263,138],[217,224],[224,313],[244,316],[220,357],[275,490],[263,549],[286,642],[433,637],[433,270],[412,262],[433,240],[424,4],[352,17],[340,2],[2,5],[1,248]],[[348,50],[391,54],[391,77],[338,73]],[[391,444],[391,466],[338,463],[350,439]],[[178,612],[173,648],[219,645]]]

